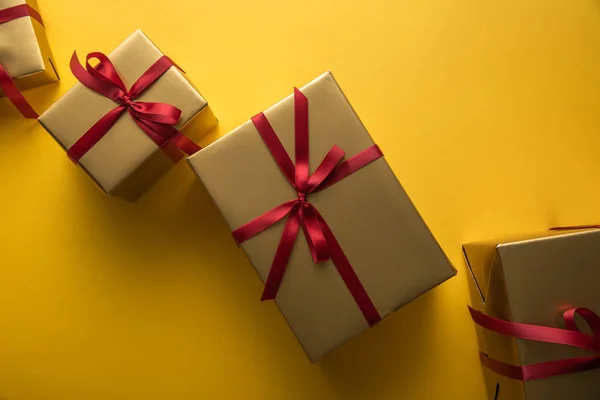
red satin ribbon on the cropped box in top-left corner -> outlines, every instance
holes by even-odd
[[[31,17],[38,21],[42,26],[42,16],[27,4],[21,4],[10,8],[0,10],[0,24],[14,21],[15,19]],[[0,89],[4,95],[13,103],[19,112],[25,118],[36,119],[38,114],[25,100],[21,91],[17,88],[8,72],[0,65]]]

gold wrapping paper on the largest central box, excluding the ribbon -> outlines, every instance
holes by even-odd
[[[373,145],[331,73],[302,89],[309,100],[310,168],[338,145],[348,156]],[[294,159],[293,98],[265,111]],[[297,194],[252,122],[188,159],[232,229]],[[455,275],[455,270],[381,158],[309,196],[382,317]],[[265,281],[284,222],[242,248]],[[258,301],[259,293],[255,299]],[[315,265],[300,233],[276,303],[313,361],[369,326],[331,262]]]

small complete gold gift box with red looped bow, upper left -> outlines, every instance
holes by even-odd
[[[79,82],[39,121],[107,194],[136,199],[217,124],[200,92],[139,30],[108,57],[88,54],[85,67],[74,54],[71,70]]]

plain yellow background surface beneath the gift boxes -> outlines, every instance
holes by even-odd
[[[185,163],[104,197],[2,99],[3,400],[483,399],[460,245],[600,221],[598,0],[39,3],[38,110],[136,28],[220,118],[205,143],[332,70],[459,275],[310,364]]]

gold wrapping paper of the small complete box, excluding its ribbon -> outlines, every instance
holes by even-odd
[[[138,30],[108,57],[125,86],[130,88],[162,55],[150,39]],[[85,54],[79,56],[84,62]],[[171,67],[136,100],[162,102],[179,108],[182,114],[175,127],[195,140],[217,123],[206,100],[175,67]],[[115,106],[111,99],[78,82],[42,114],[39,121],[63,148],[68,149]],[[79,165],[104,192],[134,199],[173,163],[133,118],[124,113],[81,158]]]

